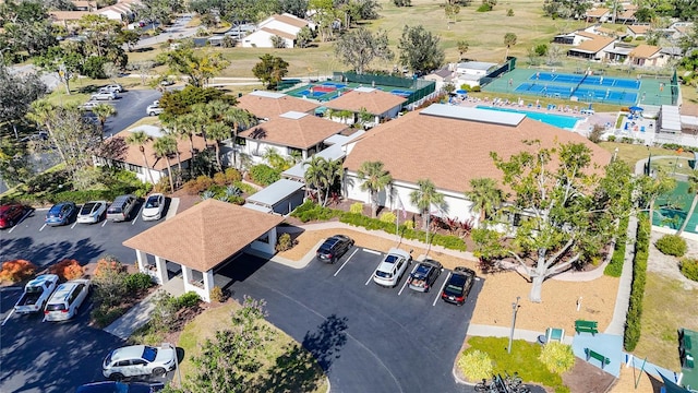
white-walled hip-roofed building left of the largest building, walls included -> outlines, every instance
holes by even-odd
[[[326,139],[348,128],[306,112],[289,111],[240,132],[236,143],[254,164],[263,163],[269,148],[286,158],[298,154],[306,159],[325,148]]]

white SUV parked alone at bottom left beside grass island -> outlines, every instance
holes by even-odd
[[[103,374],[112,380],[124,377],[165,376],[177,366],[177,349],[171,344],[159,347],[131,345],[115,349],[103,364]]]

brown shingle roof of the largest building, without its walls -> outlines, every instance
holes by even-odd
[[[454,107],[455,108],[455,107]],[[497,112],[492,111],[492,117]],[[529,118],[518,126],[501,126],[409,112],[362,135],[345,167],[356,171],[363,162],[381,160],[396,180],[417,183],[431,179],[442,190],[464,192],[470,180],[489,177],[502,180],[490,157],[496,152],[507,159],[534,146],[522,141],[540,140],[542,146],[555,143],[583,143],[592,151],[593,163],[606,165],[611,154],[587,138]]]

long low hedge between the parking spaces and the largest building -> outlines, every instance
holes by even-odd
[[[400,236],[406,239],[416,239],[421,242],[426,242],[426,233],[418,229],[412,229],[411,221],[407,222],[410,224],[406,225],[404,223],[396,228],[395,221],[385,222],[381,221],[380,218],[368,217],[361,213],[351,213],[329,207],[323,207],[311,201],[306,201],[302,205],[298,206],[291,215],[299,218],[303,223],[315,219],[327,221],[338,217],[341,223],[349,224],[351,226],[364,227],[369,230],[383,230],[394,235],[397,229],[399,230]],[[457,236],[430,233],[429,240],[432,245],[442,246],[452,250],[466,251],[466,242]]]

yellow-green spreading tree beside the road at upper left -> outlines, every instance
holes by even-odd
[[[157,56],[158,61],[165,63],[170,73],[188,78],[188,83],[195,87],[203,87],[206,80],[230,64],[219,52],[194,52],[191,45],[182,45],[179,49],[169,50]]]

